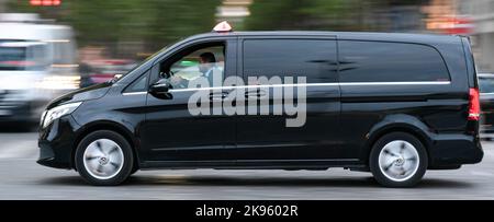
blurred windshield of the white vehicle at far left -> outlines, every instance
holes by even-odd
[[[43,70],[45,68],[46,49],[43,45],[0,46],[0,71]]]

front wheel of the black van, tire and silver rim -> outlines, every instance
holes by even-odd
[[[76,168],[91,185],[115,186],[133,171],[132,147],[121,135],[99,130],[86,136],[76,150]]]

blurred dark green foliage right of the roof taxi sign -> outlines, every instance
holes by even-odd
[[[255,0],[247,30],[379,31],[377,10],[427,0]]]

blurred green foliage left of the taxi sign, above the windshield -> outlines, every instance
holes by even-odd
[[[65,0],[60,7],[10,1],[16,12],[35,12],[75,27],[79,45],[145,42],[160,48],[192,34],[209,32],[221,0]]]

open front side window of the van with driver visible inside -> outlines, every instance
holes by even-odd
[[[224,45],[194,47],[191,51],[182,51],[172,62],[165,61],[160,65],[159,79],[167,79],[172,89],[188,89],[189,83],[198,78],[205,78],[210,86],[221,84],[225,70],[224,52]]]

